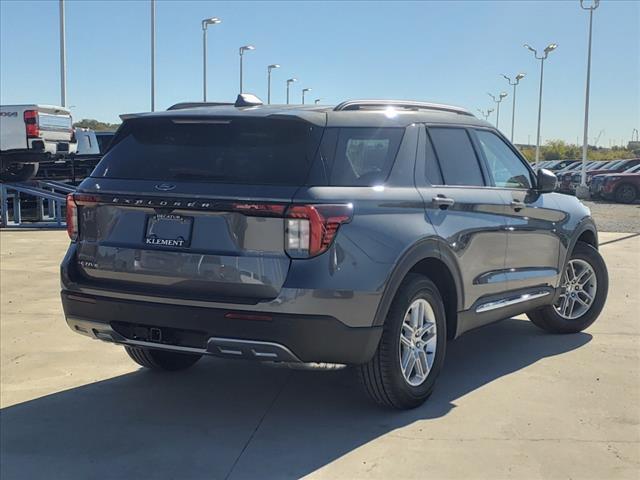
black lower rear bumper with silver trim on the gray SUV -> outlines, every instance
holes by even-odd
[[[69,327],[99,340],[192,353],[269,361],[360,364],[371,359],[382,327],[348,327],[330,316],[266,314],[227,318],[242,310],[114,299],[63,290]],[[153,329],[153,331],[152,331]]]

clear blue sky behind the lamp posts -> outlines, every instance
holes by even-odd
[[[202,97],[200,21],[209,30],[209,100],[245,91],[273,101],[292,89],[310,99],[402,98],[477,108],[509,92],[500,127],[510,132],[511,90],[500,73],[526,72],[518,90],[516,142],[535,140],[539,62],[522,47],[559,44],[545,63],[543,141],[582,141],[588,14],[573,1],[218,2],[159,0],[156,108]],[[0,103],[60,103],[57,1],[0,1]],[[115,122],[150,109],[149,2],[67,1],[67,103],[74,117]],[[640,128],[640,2],[603,0],[594,20],[591,128],[599,145]],[[495,121],[495,113],[492,117]]]

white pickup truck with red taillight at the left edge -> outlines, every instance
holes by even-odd
[[[0,180],[33,177],[40,161],[75,153],[71,112],[54,105],[0,106]]]

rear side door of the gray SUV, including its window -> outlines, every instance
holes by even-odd
[[[505,291],[506,206],[500,192],[487,188],[467,129],[423,129],[416,165],[428,219],[457,259],[464,309]]]

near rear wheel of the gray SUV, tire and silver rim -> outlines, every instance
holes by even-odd
[[[358,367],[371,399],[415,408],[431,395],[446,352],[446,317],[436,285],[409,274],[400,285],[373,358]]]

